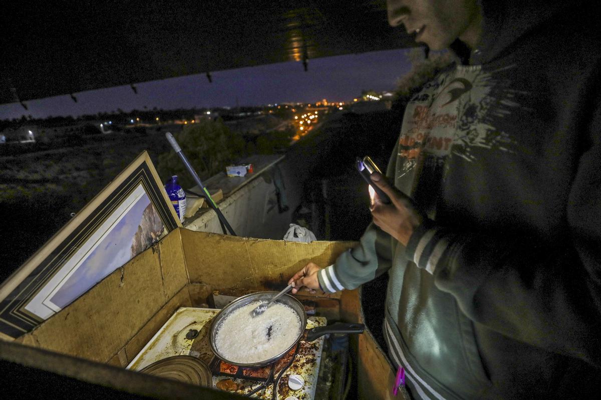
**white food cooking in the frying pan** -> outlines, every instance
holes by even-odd
[[[248,303],[225,317],[215,335],[217,351],[225,359],[240,364],[262,362],[282,353],[298,338],[301,318],[292,308],[275,303],[251,317],[260,303]]]

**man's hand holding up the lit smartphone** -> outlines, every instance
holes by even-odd
[[[371,174],[371,181],[382,189],[391,201],[391,204],[384,204],[377,193],[375,194],[370,207],[374,224],[406,246],[413,229],[423,221],[423,216],[415,209],[413,201],[389,185],[382,175],[377,172]]]

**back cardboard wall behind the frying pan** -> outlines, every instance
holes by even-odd
[[[222,288],[281,288],[308,262],[328,266],[355,244],[285,242],[186,229],[181,232],[190,282]]]

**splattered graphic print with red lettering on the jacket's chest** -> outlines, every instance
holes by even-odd
[[[405,110],[398,142],[395,183],[433,218],[448,157],[476,160],[474,148],[515,152],[498,129],[499,119],[519,107],[507,76],[513,67],[484,71],[459,66],[424,86]],[[414,184],[413,182],[419,182]]]

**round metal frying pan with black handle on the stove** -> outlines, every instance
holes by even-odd
[[[257,367],[265,366],[272,362],[275,362],[276,360],[279,360],[281,357],[285,356],[285,354],[288,354],[290,350],[292,350],[292,348],[301,340],[303,333],[305,332],[304,327],[307,326],[307,314],[305,313],[305,308],[301,304],[301,302],[299,302],[299,300],[295,299],[294,297],[290,296],[290,294],[284,294],[282,297],[279,297],[279,299],[276,300],[276,303],[287,305],[288,307],[293,309],[293,311],[299,317],[299,320],[301,320],[301,327],[303,327],[303,329],[300,330],[296,339],[290,345],[290,347],[277,354],[276,356],[270,357],[266,360],[261,360],[255,363],[239,363],[228,360],[227,358],[222,356],[221,353],[219,353],[219,351],[217,350],[217,346],[215,345],[217,333],[219,332],[219,329],[225,321],[225,318],[227,318],[231,314],[231,312],[236,311],[237,309],[247,305],[248,303],[268,302],[276,294],[278,294],[277,291],[260,291],[257,293],[246,294],[246,296],[238,297],[236,300],[234,300],[233,302],[222,308],[221,311],[219,311],[219,314],[217,314],[215,318],[213,318],[213,323],[209,331],[209,344],[211,346],[211,349],[213,350],[213,353],[215,353],[215,356],[217,356],[224,362],[227,362],[232,365],[242,367]],[[248,315],[248,318],[252,318],[250,314]],[[364,329],[364,324],[335,323],[329,326],[321,326],[310,329],[307,333],[307,341],[313,342],[314,340],[320,338],[326,333],[362,333]],[[231,332],[231,335],[239,336],[240,332]]]

